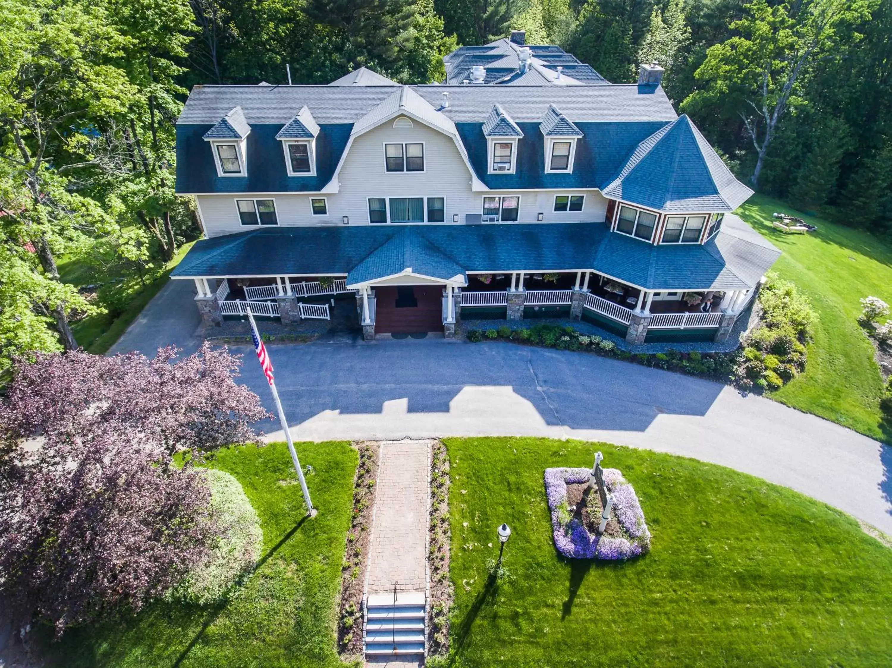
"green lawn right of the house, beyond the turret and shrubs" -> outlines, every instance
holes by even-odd
[[[805,373],[772,392],[772,399],[892,442],[880,426],[880,368],[856,318],[858,302],[874,295],[892,303],[892,247],[878,237],[824,219],[808,235],[771,227],[772,212],[803,216],[788,205],[754,196],[738,210],[742,219],[783,252],[774,269],[807,294],[818,314]]]

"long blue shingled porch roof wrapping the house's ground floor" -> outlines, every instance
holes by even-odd
[[[604,223],[266,227],[196,242],[172,275],[348,274],[355,285],[406,268],[444,280],[467,271],[593,269],[648,290],[751,288],[780,252],[736,217],[725,219],[704,245],[658,246]]]

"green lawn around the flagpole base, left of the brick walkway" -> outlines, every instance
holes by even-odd
[[[307,477],[314,519],[302,519],[285,443],[227,449],[213,463],[242,483],[263,527],[260,567],[232,600],[213,609],[161,602],[126,623],[67,631],[51,647],[59,665],[343,666],[335,618],[358,458],[344,442],[296,448],[301,464],[314,469]]]

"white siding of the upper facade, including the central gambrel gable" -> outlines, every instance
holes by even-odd
[[[357,137],[350,153],[343,161],[338,178],[340,191],[336,194],[226,194],[199,195],[202,217],[208,236],[243,232],[235,208],[235,199],[243,197],[271,197],[276,201],[279,225],[341,225],[343,216],[350,217],[351,225],[368,225],[369,197],[443,197],[445,222],[452,223],[458,214],[464,224],[467,213],[483,211],[483,197],[489,195],[519,195],[518,222],[533,223],[539,213],[548,222],[599,222],[604,220],[607,200],[597,190],[587,191],[526,191],[475,193],[471,190],[471,174],[450,136],[413,121],[413,128],[393,128],[393,121]],[[483,139],[481,139],[483,141]],[[387,172],[384,169],[384,143],[422,142],[425,144],[424,172]],[[584,194],[582,211],[554,210],[556,194]],[[328,215],[313,216],[311,197],[325,197]]]

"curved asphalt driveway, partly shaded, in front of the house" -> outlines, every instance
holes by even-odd
[[[172,281],[113,351],[194,350],[191,285]],[[186,285],[186,287],[181,287]],[[170,289],[169,289],[170,288]],[[176,318],[192,318],[189,326]],[[250,346],[244,383],[272,408]],[[296,439],[530,435],[609,441],[730,466],[892,533],[892,449],[772,400],[582,352],[442,339],[272,344]],[[261,425],[281,438],[277,423]]]

